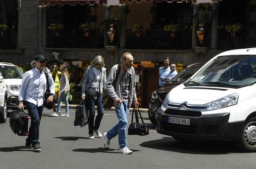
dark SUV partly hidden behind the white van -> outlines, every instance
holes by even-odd
[[[205,63],[195,63],[192,65],[189,65],[188,67],[184,68],[182,71],[180,71],[171,81],[166,83],[164,86],[157,88],[153,91],[151,95],[151,99],[149,101],[149,110],[148,110],[148,116],[149,120],[152,122],[152,124],[155,124],[155,114],[157,108],[159,108],[162,103],[164,102],[164,98],[166,94],[176,86],[180,85],[181,83],[184,83],[187,81],[197,70],[199,70]]]

